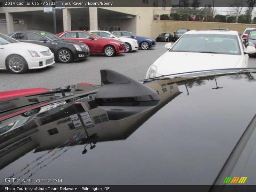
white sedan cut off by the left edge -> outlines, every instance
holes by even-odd
[[[54,55],[48,47],[19,42],[3,34],[0,34],[0,55],[0,69],[15,74],[55,63]]]

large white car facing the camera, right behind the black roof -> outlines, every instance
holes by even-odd
[[[148,68],[146,78],[184,72],[246,68],[255,47],[244,44],[237,31],[188,31]]]

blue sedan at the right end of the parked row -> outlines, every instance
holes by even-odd
[[[132,32],[129,32],[129,31],[112,31],[112,33],[115,34],[116,36],[136,39],[139,42],[141,49],[143,49],[143,50],[150,49],[151,47],[156,46],[155,39],[151,39],[148,37],[136,36],[135,34],[133,34]]]

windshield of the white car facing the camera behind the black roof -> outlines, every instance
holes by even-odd
[[[170,51],[241,55],[237,36],[226,34],[184,34]]]

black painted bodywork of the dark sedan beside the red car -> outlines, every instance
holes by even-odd
[[[14,35],[18,34],[18,33],[24,33],[25,34],[23,40],[14,38]],[[37,35],[42,36],[42,38],[45,39],[46,41],[44,41],[43,39],[40,40],[40,41],[28,40],[27,33],[36,33]],[[58,58],[57,54],[58,54],[59,50],[63,49],[63,48],[68,49],[69,51],[71,51],[73,60],[84,60],[90,54],[90,51],[77,51],[76,48],[73,45],[73,44],[76,44],[76,45],[79,45],[81,47],[81,46],[86,45],[84,43],[74,42],[74,41],[67,41],[67,40],[52,41],[50,38],[41,35],[41,33],[49,33],[49,32],[34,31],[34,30],[33,31],[32,30],[31,31],[30,30],[29,31],[17,31],[17,32],[14,32],[14,33],[7,34],[7,36],[10,36],[10,37],[12,37],[12,38],[14,38],[14,39],[16,39],[20,42],[33,43],[33,44],[38,44],[38,45],[43,45],[43,46],[48,47],[51,50],[51,52],[54,54],[55,60]],[[78,57],[78,54],[84,54],[84,57]]]

